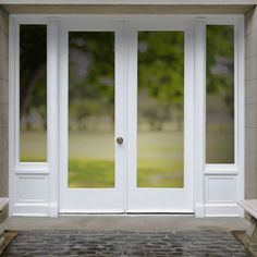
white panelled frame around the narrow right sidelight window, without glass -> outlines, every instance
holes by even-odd
[[[232,25],[234,27],[234,163],[212,164],[205,162],[206,149],[206,93],[204,88],[196,91],[200,95],[203,108],[197,110],[199,130],[199,169],[204,164],[204,210],[205,217],[241,216],[243,210],[236,204],[244,198],[244,17],[238,16],[210,16],[205,19],[205,25]],[[204,32],[204,24],[203,29]],[[205,39],[203,38],[203,41]],[[204,42],[206,45],[206,42]],[[198,52],[198,54],[203,54]],[[201,64],[206,69],[206,51]],[[203,65],[201,65],[203,71]],[[197,74],[196,74],[197,75]],[[199,77],[205,85],[205,74]],[[196,85],[197,86],[197,85]],[[203,101],[204,91],[204,101]],[[204,147],[204,151],[200,148]],[[201,155],[201,157],[200,157]],[[204,160],[204,161],[203,161]],[[201,170],[200,170],[201,171]],[[200,194],[199,194],[200,195]],[[200,213],[203,216],[203,212]]]

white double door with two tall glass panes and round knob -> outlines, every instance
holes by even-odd
[[[194,212],[194,33],[60,24],[59,211]]]

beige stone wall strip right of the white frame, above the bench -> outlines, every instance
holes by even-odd
[[[245,198],[257,197],[257,8],[245,15]]]

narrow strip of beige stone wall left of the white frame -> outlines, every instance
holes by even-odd
[[[0,197],[8,196],[9,191],[9,147],[8,147],[8,34],[9,17],[8,13],[0,9]],[[3,216],[7,211],[3,212]],[[0,220],[3,217],[0,217]]]

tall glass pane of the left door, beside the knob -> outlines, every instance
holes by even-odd
[[[69,187],[114,187],[114,33],[69,34]]]

